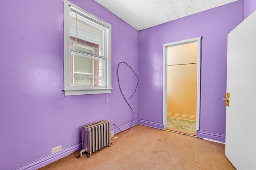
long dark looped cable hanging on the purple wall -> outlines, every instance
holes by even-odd
[[[137,82],[136,88],[135,88],[134,93],[132,94],[132,96],[135,94],[135,92],[136,92],[136,90],[137,90],[137,88],[138,88],[139,78],[138,78],[137,74],[134,72],[134,70],[132,69],[132,67],[131,67],[128,63],[122,61],[122,62],[120,62],[120,63],[118,64],[118,66],[117,66],[117,80],[118,80],[118,86],[119,86],[120,92],[121,92],[121,94],[122,94],[122,96],[123,96],[123,98],[124,98],[126,104],[128,104],[128,106],[129,106],[130,109],[132,110],[132,114],[133,114],[132,122],[133,122],[133,120],[134,120],[134,111],[133,111],[132,107],[130,106],[130,104],[128,103],[128,101],[126,100],[126,98],[124,97],[124,94],[123,94],[122,89],[121,89],[121,87],[120,87],[119,74],[118,74],[118,73],[119,73],[118,70],[119,70],[120,64],[125,64],[125,65],[127,65],[127,66],[132,70],[132,72],[135,74],[135,76],[137,77],[138,82]],[[130,98],[132,98],[132,96],[131,96]],[[130,98],[129,98],[129,99],[130,99]],[[130,125],[128,131],[129,131],[130,128],[132,127],[132,122],[131,122],[131,125]],[[114,123],[114,125],[115,125],[115,123]],[[116,126],[116,125],[115,125],[115,126]],[[116,126],[116,127],[117,127],[117,126]],[[119,131],[121,131],[118,127],[117,127],[117,129],[118,129]],[[126,134],[128,131],[126,131],[126,132],[121,131],[121,132],[124,133],[124,134]]]

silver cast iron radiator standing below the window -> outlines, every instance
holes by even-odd
[[[88,157],[92,157],[92,152],[110,146],[110,140],[110,121],[102,120],[82,126],[80,157],[84,152]]]

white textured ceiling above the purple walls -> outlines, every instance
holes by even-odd
[[[137,30],[237,0],[94,0]]]

